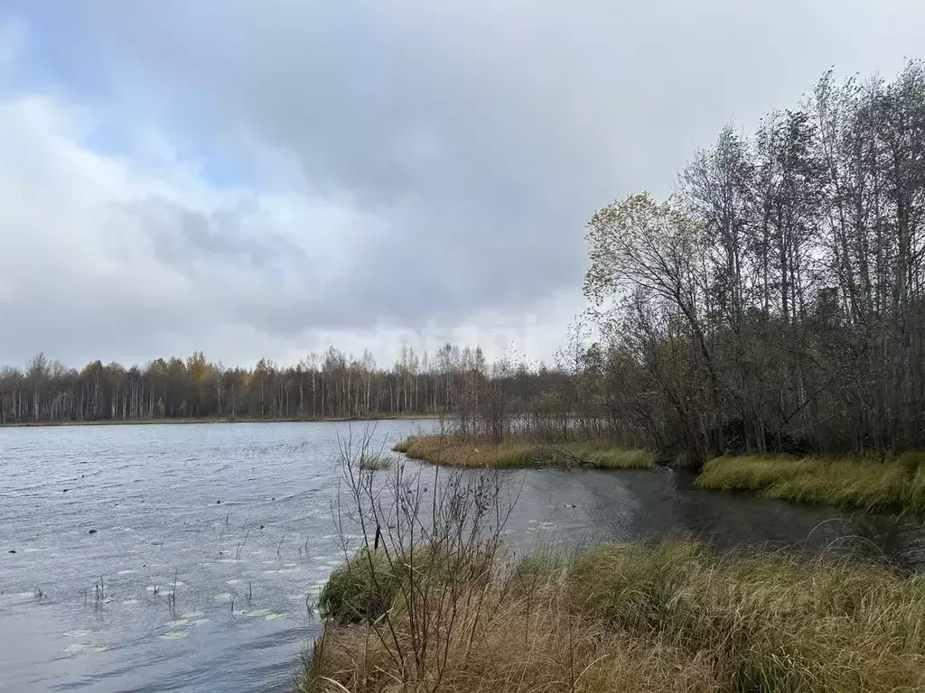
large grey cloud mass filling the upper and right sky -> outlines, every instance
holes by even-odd
[[[598,206],[667,191],[722,125],[794,103],[832,64],[893,69],[918,37],[891,12],[925,18],[872,0],[38,6],[71,71],[140,117],[214,148],[245,131],[298,159],[306,193],[348,195],[388,229],[355,229],[319,285],[323,258],[241,237],[234,210],[138,211],[165,261],[246,261],[253,292],[228,320],[280,335],[455,324],[576,290]]]

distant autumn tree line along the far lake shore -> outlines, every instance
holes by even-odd
[[[368,351],[357,358],[334,347],[295,365],[261,359],[253,368],[226,368],[196,352],[75,370],[40,353],[23,369],[0,370],[0,423],[441,415],[486,375],[480,349],[449,344],[432,358],[405,346],[388,369]]]

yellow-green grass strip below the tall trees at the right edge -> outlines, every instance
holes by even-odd
[[[722,456],[707,464],[697,485],[803,503],[923,514],[925,453],[886,460]]]

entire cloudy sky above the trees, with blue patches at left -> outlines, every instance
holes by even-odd
[[[0,0],[0,363],[550,360],[584,225],[919,0]]]

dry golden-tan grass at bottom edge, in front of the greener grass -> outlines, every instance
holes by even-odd
[[[302,691],[712,691],[706,658],[609,632],[569,613],[556,590],[534,601],[499,607],[480,621],[475,614],[439,643],[447,657],[441,672],[413,671],[402,680],[388,645],[366,626],[334,626],[315,650]]]

